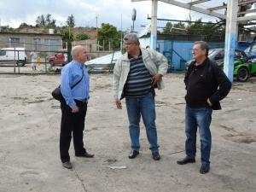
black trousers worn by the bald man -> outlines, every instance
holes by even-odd
[[[68,149],[70,147],[72,133],[75,155],[85,153],[83,131],[87,102],[76,101],[76,103],[79,107],[79,113],[72,113],[72,109],[66,104],[66,102],[61,102],[60,152],[62,163],[70,160]]]

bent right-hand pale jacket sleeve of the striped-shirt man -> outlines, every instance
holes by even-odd
[[[157,71],[161,75],[165,75],[168,69],[168,61],[166,57],[159,52],[155,51],[154,49],[150,49],[153,54],[154,63],[157,67]]]

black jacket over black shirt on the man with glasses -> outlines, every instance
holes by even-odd
[[[220,102],[231,89],[230,80],[223,70],[213,64],[208,58],[200,65],[195,61],[189,65],[184,78],[187,95],[186,102],[191,107],[209,107],[207,98],[212,102],[212,109],[221,109]],[[209,107],[210,108],[210,107]]]

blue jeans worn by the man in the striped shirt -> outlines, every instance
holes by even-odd
[[[143,97],[126,97],[126,108],[129,119],[129,131],[131,137],[131,148],[139,151],[140,148],[140,119],[146,127],[148,142],[152,153],[158,152],[157,132],[155,126],[154,96],[149,93]]]

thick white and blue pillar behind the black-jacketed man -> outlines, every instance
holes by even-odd
[[[233,81],[234,75],[234,57],[236,47],[236,23],[238,0],[228,0],[227,19],[226,19],[226,36],[224,49],[224,73],[228,76],[230,81]]]

